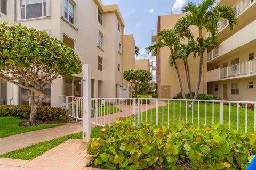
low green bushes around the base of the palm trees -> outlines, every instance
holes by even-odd
[[[195,93],[193,92],[192,95],[194,96]],[[180,92],[179,94],[177,94],[175,97],[173,97],[174,99],[183,99],[182,97],[182,93]],[[190,97],[190,94],[186,95],[186,99],[192,99]],[[212,95],[212,94],[198,94],[196,97],[197,100],[222,100],[222,98],[220,98],[217,95]]]

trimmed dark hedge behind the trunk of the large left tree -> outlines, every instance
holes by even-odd
[[[27,105],[0,106],[0,117],[15,116],[28,119],[31,108]],[[66,122],[67,112],[59,107],[38,107],[36,120]]]

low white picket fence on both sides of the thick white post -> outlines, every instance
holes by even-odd
[[[82,120],[82,99],[60,96],[61,106],[77,120]],[[194,105],[188,106],[194,101]],[[134,99],[93,98],[91,101],[92,123],[97,126],[112,124],[116,118],[135,115],[135,122],[149,122],[162,126],[177,123],[227,124],[237,131],[256,131],[256,102],[180,100],[180,99]]]

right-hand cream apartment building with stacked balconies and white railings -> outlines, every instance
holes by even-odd
[[[238,25],[230,30],[227,20],[220,22],[220,47],[210,48],[205,58],[207,92],[229,100],[255,101],[256,1],[222,0],[218,4],[233,7]]]

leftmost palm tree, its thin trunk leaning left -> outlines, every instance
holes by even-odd
[[[172,29],[159,31],[157,36],[158,36],[159,40],[156,43],[152,43],[146,49],[146,52],[147,53],[153,52],[153,53],[157,54],[157,50],[159,48],[167,47],[167,48],[170,49],[170,52],[171,52],[170,61],[175,66],[175,70],[177,72],[179,83],[180,83],[180,89],[181,89],[181,92],[182,92],[182,97],[183,97],[183,99],[186,99],[186,95],[185,95],[185,92],[184,92],[184,89],[183,89],[183,84],[182,84],[182,81],[181,81],[180,72],[179,72],[177,62],[176,62],[176,56],[174,54],[174,51],[175,51],[175,49],[177,49],[179,47],[180,41],[183,38],[185,38],[185,37],[187,37],[189,39],[192,38],[191,31],[189,29],[177,30],[175,28],[172,28]]]

